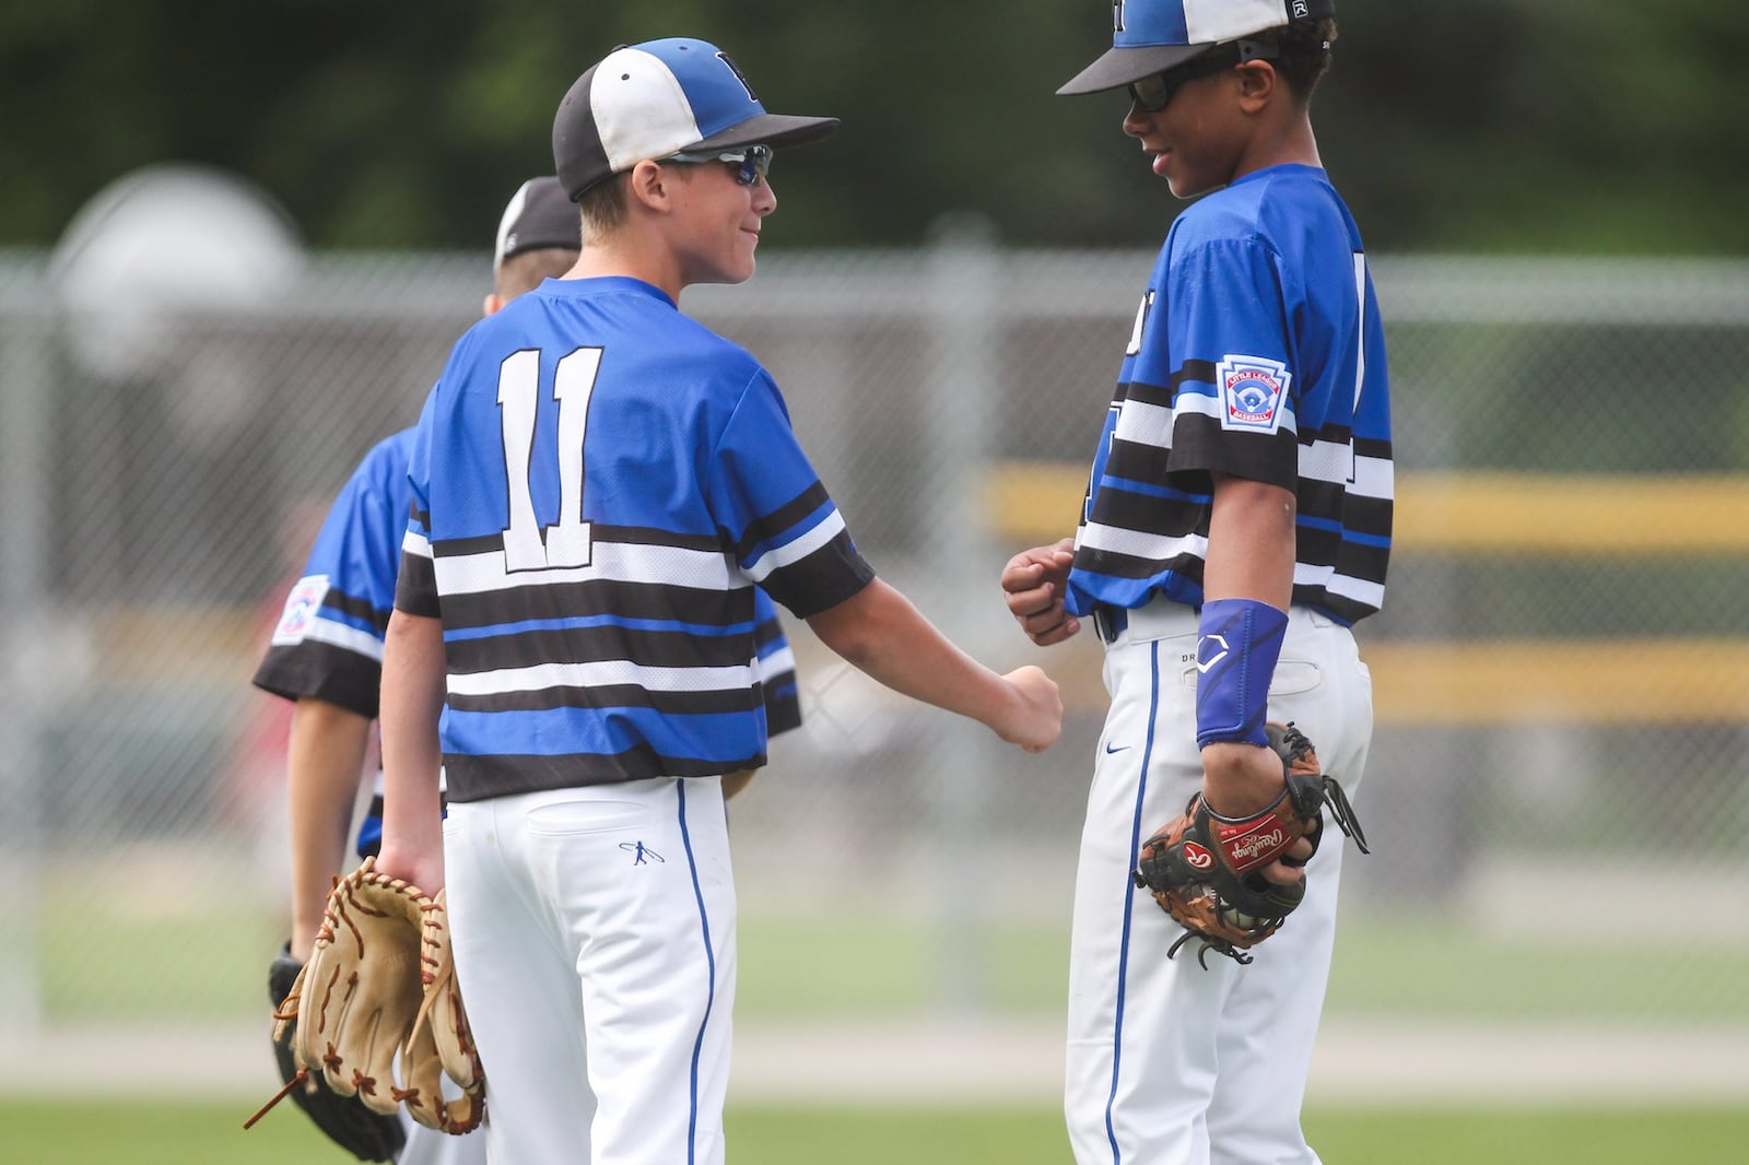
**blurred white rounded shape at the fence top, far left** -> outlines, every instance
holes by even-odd
[[[86,203],[49,278],[73,357],[122,380],[163,369],[175,317],[269,308],[303,266],[292,220],[264,191],[210,166],[157,164]]]

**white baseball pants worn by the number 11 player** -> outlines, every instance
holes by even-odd
[[[491,1165],[721,1165],[735,883],[719,778],[451,803]]]

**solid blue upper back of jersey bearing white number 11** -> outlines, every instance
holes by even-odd
[[[476,324],[439,385],[432,457],[455,488],[434,474],[432,539],[504,532],[518,556],[525,504],[565,527],[584,497],[596,521],[715,537],[698,483],[757,373],[649,283],[547,280]]]

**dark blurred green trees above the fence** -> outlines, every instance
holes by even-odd
[[[780,161],[773,243],[911,245],[944,212],[1007,241],[1146,245],[1177,210],[1123,98],[1055,87],[1105,0],[336,0],[0,7],[0,245],[51,245],[156,161],[275,191],[324,248],[479,248],[551,168],[553,108],[614,44],[728,49],[773,108],[838,114]],[[1341,0],[1324,161],[1375,250],[1749,254],[1730,0]]]

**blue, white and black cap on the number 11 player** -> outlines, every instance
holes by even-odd
[[[553,119],[553,163],[575,199],[645,159],[806,145],[836,128],[836,117],[768,114],[722,49],[670,37],[621,45],[577,77]]]

